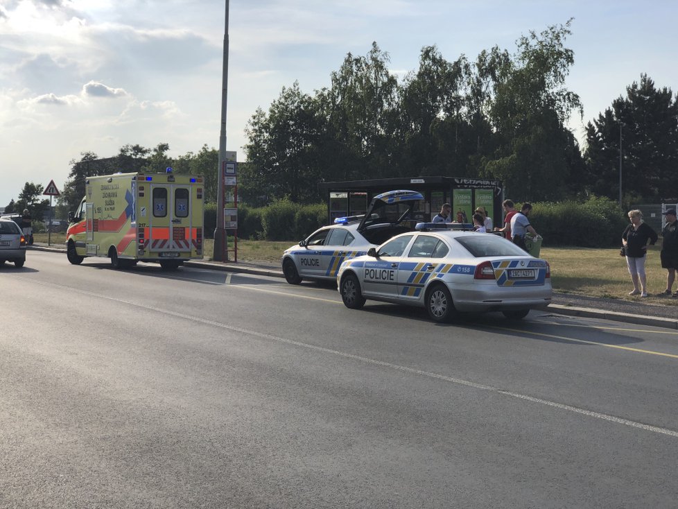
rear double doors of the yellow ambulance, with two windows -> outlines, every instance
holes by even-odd
[[[191,252],[191,185],[150,184],[148,248],[159,258],[179,258]]]

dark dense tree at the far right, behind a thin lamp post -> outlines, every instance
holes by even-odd
[[[586,125],[586,183],[593,193],[618,198],[620,142],[629,200],[678,199],[678,99],[671,89],[657,89],[641,74],[625,97]]]

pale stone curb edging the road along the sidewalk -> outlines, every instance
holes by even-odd
[[[65,252],[65,248],[54,248],[44,245],[31,245],[31,249],[38,251]],[[207,270],[218,270],[220,272],[231,272],[238,274],[252,274],[268,277],[284,277],[280,270],[275,268],[258,268],[252,266],[236,265],[236,262],[220,261],[186,261],[184,266],[202,268]],[[548,311],[553,311],[559,315],[579,316],[582,318],[598,318],[599,320],[610,320],[613,322],[631,323],[634,325],[647,325],[648,327],[661,327],[663,329],[678,329],[678,319],[661,318],[645,315],[632,315],[630,313],[618,313],[616,311],[604,311],[586,307],[564,306],[562,304],[548,304]]]

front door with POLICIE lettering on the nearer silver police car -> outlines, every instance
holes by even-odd
[[[403,234],[391,239],[377,248],[376,259],[365,261],[363,269],[363,293],[365,295],[396,297],[398,267],[414,236],[414,234]]]

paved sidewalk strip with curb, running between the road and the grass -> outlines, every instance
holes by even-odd
[[[65,251],[62,245],[36,243],[29,249],[45,251]],[[266,262],[253,261],[187,261],[186,266],[221,270],[223,272],[263,275],[268,277],[284,277],[280,266]],[[667,300],[674,300],[667,297]],[[678,329],[678,307],[661,304],[648,304],[638,300],[623,300],[607,297],[588,297],[575,293],[558,293],[554,291],[553,300],[548,310],[567,316],[598,318],[613,320],[648,327]]]

